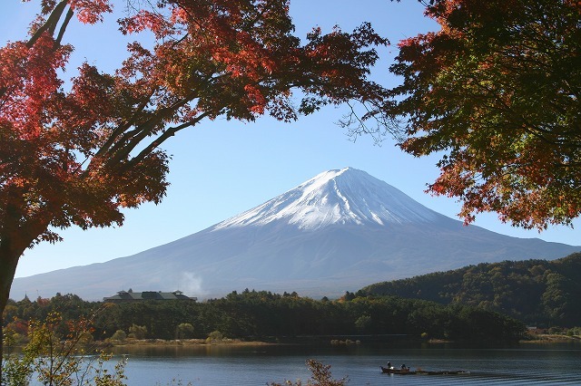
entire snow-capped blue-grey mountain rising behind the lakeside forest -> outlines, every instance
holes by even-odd
[[[122,289],[202,298],[245,288],[330,297],[377,282],[528,258],[581,246],[465,227],[352,168],[296,188],[191,236],[106,263],[17,278],[13,299],[55,293],[100,299]]]

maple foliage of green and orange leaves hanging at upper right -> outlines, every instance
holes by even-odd
[[[542,230],[581,214],[581,3],[432,0],[438,32],[399,43],[389,106],[415,155],[440,154],[437,195],[467,223],[497,212]]]

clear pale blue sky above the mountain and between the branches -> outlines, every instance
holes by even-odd
[[[24,38],[38,1],[22,4],[20,0],[2,0],[2,3],[0,43]],[[117,11],[121,11],[123,2],[116,3],[120,8]],[[373,77],[385,85],[397,82],[388,72],[397,53],[395,44],[436,28],[422,12],[415,0],[401,3],[291,0],[291,15],[300,36],[317,25],[323,32],[329,32],[335,24],[350,31],[365,21],[387,36],[393,45],[381,51],[383,59],[373,72]],[[125,43],[116,32],[115,19],[116,16],[111,16],[104,24],[95,26],[75,23],[69,28],[64,40],[75,46],[73,69],[86,60],[113,71],[123,60]],[[74,71],[67,75],[73,76]],[[260,205],[323,170],[348,166],[367,171],[448,217],[456,216],[459,205],[454,199],[424,193],[426,184],[438,176],[435,167],[438,159],[415,159],[401,152],[391,140],[381,146],[366,137],[353,142],[335,124],[344,111],[328,108],[291,124],[270,118],[251,123],[205,121],[178,134],[165,145],[172,154],[169,176],[172,186],[161,205],[147,204],[126,211],[123,227],[64,230],[60,232],[64,242],[29,250],[21,258],[16,276],[130,256]],[[579,220],[576,229],[551,227],[541,234],[503,225],[494,214],[481,215],[476,225],[509,236],[581,245]]]

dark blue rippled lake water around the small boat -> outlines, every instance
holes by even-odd
[[[409,347],[413,346],[413,347]],[[265,385],[307,381],[305,362],[331,365],[334,379],[349,376],[350,385],[579,385],[580,343],[522,343],[502,348],[450,344],[352,344],[349,346],[199,346],[119,347],[129,354],[127,384]],[[390,361],[412,369],[465,370],[461,375],[383,374]]]

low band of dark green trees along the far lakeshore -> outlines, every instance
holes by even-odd
[[[206,302],[145,301],[123,304],[86,302],[74,294],[52,299],[10,301],[5,330],[25,335],[29,320],[52,313],[64,323],[92,318],[94,339],[117,336],[149,339],[206,338],[212,333],[241,340],[309,336],[407,334],[412,338],[513,341],[525,326],[502,314],[459,304],[442,305],[397,296],[313,300],[298,294],[245,290]],[[65,329],[65,326],[63,327]]]

